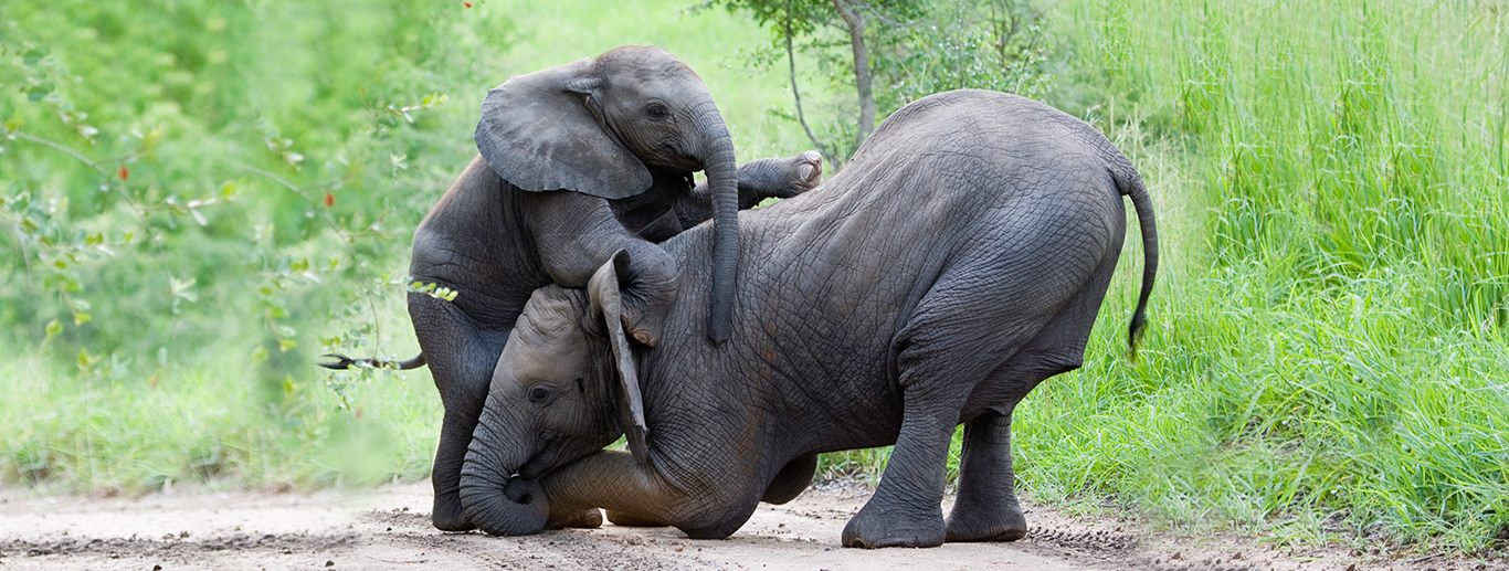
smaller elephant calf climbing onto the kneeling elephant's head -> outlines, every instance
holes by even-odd
[[[536,289],[585,286],[616,251],[634,252],[623,325],[653,344],[678,273],[653,242],[714,218],[720,254],[709,263],[720,293],[709,307],[712,316],[726,313],[735,210],[804,192],[822,172],[815,151],[735,168],[706,85],[655,47],[509,79],[483,101],[475,140],[480,154],[415,230],[409,279],[457,292],[454,301],[409,293],[420,355],[401,363],[327,355],[337,361],[323,364],[429,364],[445,406],[432,468],[432,523],[441,530],[472,529],[457,491],[462,459],[492,369]],[[699,169],[708,181],[694,186]],[[709,322],[714,340],[717,329]]]

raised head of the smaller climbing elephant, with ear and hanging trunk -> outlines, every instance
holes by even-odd
[[[705,171],[714,202],[714,293],[708,335],[721,343],[733,311],[738,172],[733,142],[708,86],[655,47],[518,76],[489,91],[477,148],[502,180],[530,192],[575,190],[634,208],[656,175]],[[661,207],[670,207],[664,204]],[[655,210],[655,208],[652,208]],[[631,319],[655,308],[626,308]],[[650,329],[656,323],[628,323]],[[643,340],[643,338],[641,338]]]

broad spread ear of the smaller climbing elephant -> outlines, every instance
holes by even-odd
[[[477,150],[502,180],[524,190],[576,190],[607,199],[650,187],[650,171],[587,106],[602,82],[592,60],[510,77],[487,91]]]

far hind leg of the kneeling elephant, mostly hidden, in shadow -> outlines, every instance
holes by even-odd
[[[1011,471],[1011,415],[985,412],[964,424],[958,498],[946,541],[1016,541],[1028,533]]]

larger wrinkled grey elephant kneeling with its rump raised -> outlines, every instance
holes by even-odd
[[[733,341],[693,326],[711,292],[706,228],[662,245],[682,273],[655,347],[617,326],[632,252],[585,292],[536,292],[493,372],[463,509],[495,535],[592,524],[584,514],[605,508],[616,523],[723,538],[761,500],[806,488],[815,455],[895,444],[844,545],[1022,538],[1011,412],[1080,366],[1126,233],[1123,195],[1147,255],[1135,347],[1157,233],[1126,157],[1020,97],[919,100],[822,189],[741,215]],[[631,452],[602,450],[620,434]]]

